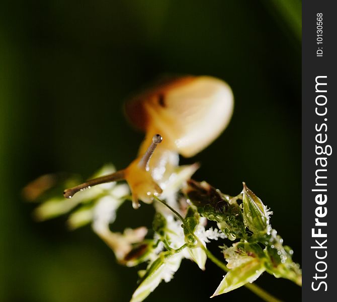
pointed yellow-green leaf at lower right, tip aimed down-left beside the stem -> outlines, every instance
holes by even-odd
[[[264,271],[265,267],[263,262],[258,258],[251,258],[250,261],[231,269],[211,297],[236,289],[248,282],[252,283],[259,278]]]

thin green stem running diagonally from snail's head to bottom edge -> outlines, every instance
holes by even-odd
[[[216,258],[200,241],[200,239],[194,234],[194,232],[192,230],[190,230],[189,225],[186,223],[186,220],[183,218],[183,216],[181,214],[179,214],[172,206],[168,205],[166,202],[164,202],[163,200],[159,199],[158,197],[154,196],[154,199],[161,202],[163,205],[165,205],[166,207],[168,207],[173,213],[175,213],[178,218],[180,220],[182,220],[182,222],[184,223],[185,227],[187,228],[187,230],[193,235],[193,237],[195,238],[195,240],[198,242],[198,244],[200,245],[200,247],[205,251],[207,257],[214,263],[216,264],[219,268],[221,268],[222,270],[224,270],[225,272],[228,272],[228,268],[226,267],[226,265],[220,261],[218,258]],[[184,246],[183,246],[184,247]],[[244,284],[245,287],[247,287],[249,290],[251,290],[252,292],[254,292],[256,295],[258,295],[260,298],[262,298],[263,300],[265,300],[266,302],[282,302],[281,300],[275,298],[273,295],[271,295],[270,293],[268,293],[267,291],[265,291],[264,289],[262,289],[261,287],[259,287],[256,284],[251,284],[251,283],[246,283]]]

